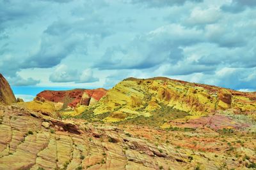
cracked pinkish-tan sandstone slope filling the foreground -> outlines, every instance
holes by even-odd
[[[195,129],[113,126],[58,120],[17,106],[0,106],[0,122],[3,170],[255,167],[255,138],[238,124],[236,131],[199,122],[192,122]]]

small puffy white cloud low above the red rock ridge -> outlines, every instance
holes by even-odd
[[[72,81],[76,83],[92,83],[99,81],[99,78],[93,76],[92,69],[85,69],[79,72],[77,69],[61,64],[56,67],[54,72],[50,75],[49,80],[54,83],[67,83]]]

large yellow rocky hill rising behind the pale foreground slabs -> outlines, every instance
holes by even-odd
[[[127,78],[109,90],[93,108],[95,115],[110,113],[109,121],[172,111],[184,116],[229,111],[255,117],[256,93],[163,77]]]

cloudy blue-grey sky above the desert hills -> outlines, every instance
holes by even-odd
[[[166,76],[256,89],[255,0],[0,0],[16,96]]]

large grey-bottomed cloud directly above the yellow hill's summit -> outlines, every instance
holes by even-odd
[[[96,67],[100,69],[145,69],[163,62],[184,59],[182,46],[203,41],[202,32],[180,25],[166,25],[133,39],[127,46],[108,48]],[[136,61],[136,62],[134,62]]]

